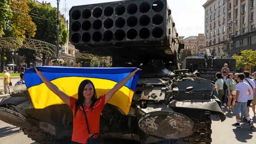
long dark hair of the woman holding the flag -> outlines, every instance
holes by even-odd
[[[83,80],[78,87],[78,99],[76,100],[76,103],[75,103],[75,116],[76,116],[76,112],[77,112],[78,108],[80,106],[83,106],[83,102],[84,102],[84,94],[83,93],[84,93],[84,87],[86,86],[86,84],[91,84],[92,88],[93,88],[92,104],[90,105],[91,110],[92,110],[95,102],[98,100],[97,95],[96,95],[96,90],[95,90],[95,87],[94,87],[94,84],[92,83],[92,81]]]

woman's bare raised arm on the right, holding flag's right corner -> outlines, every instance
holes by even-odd
[[[107,104],[108,101],[112,98],[112,96],[120,89],[122,88],[126,82],[128,82],[130,80],[130,78],[132,78],[135,73],[138,71],[139,69],[137,70],[134,70],[134,72],[131,72],[128,76],[126,76],[121,82],[118,82],[114,88],[112,88],[111,90],[109,90],[107,93],[106,93],[106,98],[105,98],[105,102],[104,104]]]

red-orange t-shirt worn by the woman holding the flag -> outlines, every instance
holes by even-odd
[[[99,133],[100,131],[100,113],[104,108],[105,102],[105,94],[98,98],[97,102],[94,103],[94,107],[91,111],[90,106],[85,106],[84,110],[87,115],[88,125],[90,134]],[[73,134],[72,134],[72,141],[78,142],[81,144],[86,144],[87,139],[89,138],[88,129],[86,126],[86,121],[84,118],[84,112],[81,108],[78,108],[76,112],[76,117],[74,116],[75,113],[75,102],[76,98],[70,97],[70,108],[73,111]]]

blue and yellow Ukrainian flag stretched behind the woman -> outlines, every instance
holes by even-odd
[[[91,80],[95,86],[97,96],[106,94],[118,82],[137,68],[73,68],[62,66],[38,66],[36,67],[42,74],[55,84],[68,96],[78,98],[78,87],[83,80]],[[125,114],[128,114],[132,96],[136,88],[141,70],[138,70],[108,102],[118,106]],[[64,102],[50,91],[36,74],[34,67],[28,68],[24,74],[25,84],[28,88],[34,108],[46,108],[54,104],[64,104]]]

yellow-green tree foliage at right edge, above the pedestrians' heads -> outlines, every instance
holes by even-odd
[[[234,54],[236,58],[236,68],[243,68],[244,65],[256,66],[256,51],[255,50],[242,50],[240,55]]]

